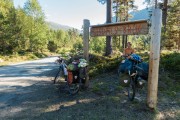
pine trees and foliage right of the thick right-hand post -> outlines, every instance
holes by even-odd
[[[163,47],[168,50],[180,50],[180,1],[175,0],[170,4],[166,32],[163,41]]]

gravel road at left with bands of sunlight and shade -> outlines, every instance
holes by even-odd
[[[0,119],[15,119],[23,111],[33,111],[31,107],[36,106],[33,102],[43,99],[44,95],[38,92],[43,84],[53,86],[58,69],[56,59],[49,57],[0,67]],[[24,115],[18,115],[17,119],[19,116]]]

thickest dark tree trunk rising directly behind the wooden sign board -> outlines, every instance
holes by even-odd
[[[106,8],[106,23],[111,23],[112,17],[112,1],[107,0],[107,8]],[[106,36],[106,53],[105,55],[111,55],[112,53],[112,38],[111,36]]]

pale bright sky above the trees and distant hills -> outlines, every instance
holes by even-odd
[[[27,0],[14,0],[15,7],[23,7]],[[91,25],[106,22],[106,5],[97,0],[38,0],[45,13],[46,21],[82,29],[83,19]],[[144,0],[135,0],[138,9],[143,9]]]

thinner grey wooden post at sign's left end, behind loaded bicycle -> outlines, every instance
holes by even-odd
[[[84,50],[84,58],[89,62],[89,27],[90,21],[84,19],[83,21],[83,50]],[[86,73],[88,73],[88,68]],[[86,76],[85,87],[89,86],[89,75]]]

